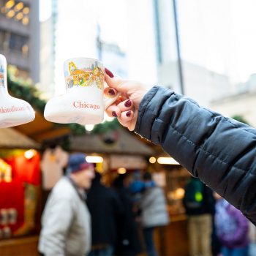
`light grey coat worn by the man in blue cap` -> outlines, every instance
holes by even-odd
[[[89,252],[91,217],[84,196],[69,178],[59,180],[42,215],[39,252],[46,256],[82,256]]]

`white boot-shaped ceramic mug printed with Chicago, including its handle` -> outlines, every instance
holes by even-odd
[[[105,109],[119,94],[104,94],[105,67],[97,59],[74,58],[64,62],[66,94],[45,106],[45,119],[60,124],[99,124]]]

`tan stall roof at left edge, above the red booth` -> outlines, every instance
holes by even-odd
[[[0,129],[0,148],[35,148],[40,144],[13,128]]]

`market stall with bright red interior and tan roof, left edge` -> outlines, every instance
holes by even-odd
[[[15,129],[0,129],[0,255],[37,252],[39,148]]]

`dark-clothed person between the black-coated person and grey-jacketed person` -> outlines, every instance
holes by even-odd
[[[120,174],[113,181],[113,188],[116,190],[124,214],[118,220],[118,241],[116,243],[115,255],[135,256],[141,252],[138,227],[135,222],[132,197],[129,195],[130,175]]]

